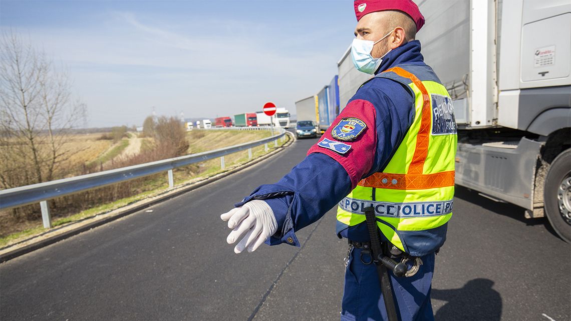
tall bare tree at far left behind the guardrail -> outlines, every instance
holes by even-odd
[[[3,188],[54,179],[69,130],[85,118],[66,73],[13,31],[0,39],[0,183]]]

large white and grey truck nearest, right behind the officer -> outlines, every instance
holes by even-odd
[[[456,184],[571,240],[571,2],[419,1],[425,62],[453,99]],[[340,106],[370,75],[339,63]]]

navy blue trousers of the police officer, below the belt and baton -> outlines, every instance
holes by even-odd
[[[353,248],[349,255],[341,321],[388,321],[376,266],[361,262],[361,251]],[[369,262],[371,258],[364,255],[363,260]],[[423,256],[421,260],[420,270],[410,278],[396,278],[389,272],[400,321],[434,320],[430,291],[435,254]]]

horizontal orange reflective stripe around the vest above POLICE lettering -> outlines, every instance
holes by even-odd
[[[435,174],[391,174],[376,172],[361,179],[358,186],[388,188],[391,190],[427,190],[454,186],[454,171],[437,172]]]

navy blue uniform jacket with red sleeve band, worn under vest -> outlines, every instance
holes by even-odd
[[[389,51],[377,73],[402,64],[424,65],[419,41]],[[252,199],[265,200],[278,221],[278,231],[266,243],[299,246],[295,236],[297,230],[319,220],[347,196],[359,180],[383,171],[387,166],[412,125],[413,103],[411,93],[400,83],[373,78],[357,90],[320,139],[335,141],[331,130],[337,123],[342,118],[358,118],[367,128],[358,139],[343,142],[351,146],[349,153],[336,153],[316,144],[279,182],[259,186],[236,206]],[[369,239],[365,223],[348,227],[337,222],[337,235],[360,242]]]

